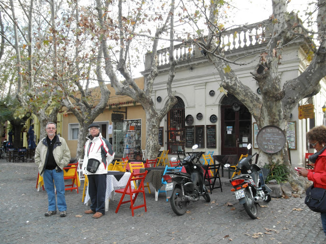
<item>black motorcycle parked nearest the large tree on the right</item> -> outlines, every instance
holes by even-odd
[[[248,152],[251,144],[248,145]],[[248,154],[249,155],[249,154]],[[242,158],[236,166],[236,172],[241,174],[234,176],[230,182],[233,186],[231,189],[235,193],[235,197],[243,204],[244,210],[252,219],[257,219],[257,204],[259,201],[269,202],[271,189],[265,185],[265,180],[268,172],[263,174],[261,168],[256,164],[250,164],[253,157],[256,155],[249,155]],[[225,164],[224,167],[230,167]]]

